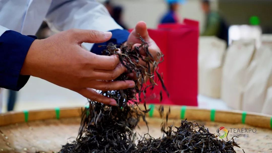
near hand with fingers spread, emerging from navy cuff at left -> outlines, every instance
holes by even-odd
[[[111,32],[71,29],[49,38],[34,40],[25,58],[21,75],[31,75],[73,90],[93,101],[117,105],[97,90],[133,88],[134,81],[112,81],[126,71],[117,55],[96,55],[81,43],[101,43]],[[92,89],[93,88],[93,89]]]

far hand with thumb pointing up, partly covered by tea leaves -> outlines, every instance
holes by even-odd
[[[160,59],[158,55],[161,54],[160,49],[157,46],[157,44],[154,42],[154,40],[150,38],[147,32],[146,23],[144,21],[140,21],[136,24],[135,29],[128,36],[128,40],[126,43],[131,43],[133,45],[132,48],[134,48],[135,46],[140,46],[142,42],[139,38],[137,38],[139,37],[139,34],[144,39],[144,41],[147,42],[149,45],[148,50],[150,54],[153,56],[153,58],[152,57],[149,57],[149,58],[153,61],[159,61]],[[147,56],[146,53],[142,49],[140,49],[140,54],[144,57]],[[146,63],[142,60],[140,60],[138,64],[146,66]],[[151,69],[153,69],[153,67],[151,67]],[[135,77],[135,75],[133,74],[130,74],[130,76]]]

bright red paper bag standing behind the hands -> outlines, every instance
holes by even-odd
[[[148,32],[165,55],[158,71],[170,96],[163,92],[162,104],[197,106],[198,22],[186,19],[184,24],[162,24]],[[160,83],[148,89],[146,103],[160,103],[161,90]]]

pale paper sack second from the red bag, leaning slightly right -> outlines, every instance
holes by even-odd
[[[245,74],[255,53],[255,40],[237,40],[227,49],[222,73],[221,98],[231,108],[242,108]]]

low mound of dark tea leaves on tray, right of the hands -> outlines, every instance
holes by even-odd
[[[172,152],[218,152],[228,153],[236,152],[233,147],[238,146],[234,142],[234,137],[231,140],[217,139],[217,135],[209,132],[208,129],[201,124],[181,121],[180,127],[172,126],[163,132],[165,137],[162,139],[154,139],[149,134],[146,134],[138,141],[137,151],[135,152],[151,152],[151,153],[172,153]],[[146,138],[149,137],[149,138]],[[240,148],[240,147],[239,147]]]

